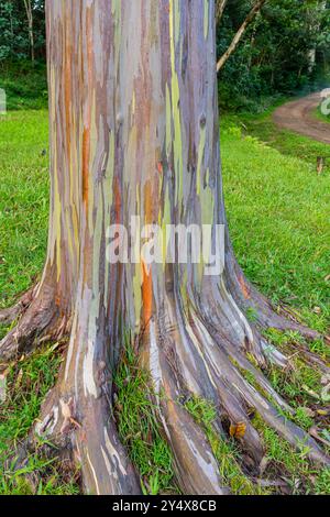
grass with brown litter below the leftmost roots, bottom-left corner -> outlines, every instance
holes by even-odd
[[[0,403],[0,495],[69,495],[80,491],[79,473],[73,473],[57,460],[55,447],[54,458],[50,459],[44,457],[40,443],[24,465],[18,464],[15,455],[40,416],[62,360],[58,344],[43,346],[2,373],[7,398]]]

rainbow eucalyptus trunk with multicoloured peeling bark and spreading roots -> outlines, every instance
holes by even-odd
[[[278,407],[292,409],[262,373],[268,362],[287,362],[264,341],[263,327],[315,334],[275,312],[234,258],[221,187],[215,20],[213,0],[47,1],[48,250],[38,285],[1,315],[20,318],[0,358],[31,351],[42,336],[69,337],[30,443],[37,435],[70,451],[88,493],[140,492],[112,409],[128,340],[150,373],[184,493],[227,492],[202,429],[180,404],[189,395],[217,406],[223,436],[224,416],[244,424],[239,439],[256,466],[263,446],[251,408],[327,463],[278,415]],[[108,228],[129,227],[132,216],[161,227],[223,224],[223,271],[206,274],[205,263],[191,261],[109,261]],[[251,308],[254,324],[244,316]]]

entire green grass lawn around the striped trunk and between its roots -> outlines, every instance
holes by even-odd
[[[262,143],[266,142],[266,143]],[[223,180],[229,223],[240,263],[249,278],[272,300],[293,306],[312,328],[329,326],[330,172],[316,174],[316,156],[326,146],[274,128],[268,117],[224,117],[222,120]],[[327,148],[328,151],[328,148]],[[0,119],[0,306],[10,305],[42,271],[48,212],[47,113],[21,110]],[[0,328],[0,336],[7,329]],[[300,342],[299,336],[270,332],[278,346]],[[41,402],[54,384],[61,346],[45,346],[26,362],[11,365],[8,400],[0,405],[0,470],[8,448],[24,438],[37,417]],[[322,341],[312,350],[329,361]],[[320,376],[298,364],[295,375],[272,370],[276,388],[296,408],[296,419],[308,429],[318,425],[329,439]],[[129,382],[128,382],[129,380]],[[145,493],[175,492],[172,459],[158,433],[146,398],[147,380],[136,374],[128,352],[117,374],[119,430],[142,477]],[[304,387],[305,386],[305,387]],[[314,395],[310,393],[314,392]],[[316,398],[315,398],[316,397]],[[306,413],[305,408],[309,408]],[[219,459],[223,479],[234,493],[255,493],[242,471],[234,443],[212,433],[213,409],[190,400],[187,410],[200,421]],[[324,409],[322,409],[324,411]],[[290,493],[330,493],[329,471],[319,471],[282,442],[255,416],[266,446],[271,479],[284,474]],[[327,435],[328,432],[328,435]],[[132,438],[133,437],[133,438]],[[151,438],[152,437],[152,441]],[[0,494],[75,494],[78,474],[72,475],[38,455],[24,472],[7,466],[0,474]],[[264,492],[267,493],[265,490]]]

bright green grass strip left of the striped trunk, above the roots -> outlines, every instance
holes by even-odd
[[[48,219],[46,111],[0,117],[0,307],[42,272]]]

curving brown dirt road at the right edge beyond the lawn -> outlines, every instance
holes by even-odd
[[[330,123],[318,120],[315,114],[320,102],[320,94],[287,102],[274,111],[273,120],[279,128],[330,144]]]

